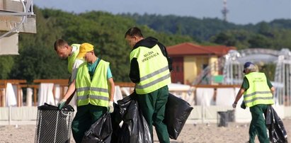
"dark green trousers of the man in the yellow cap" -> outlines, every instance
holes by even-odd
[[[81,105],[77,107],[76,116],[72,122],[72,133],[76,143],[80,143],[84,133],[91,125],[105,114],[107,108],[98,105]]]

